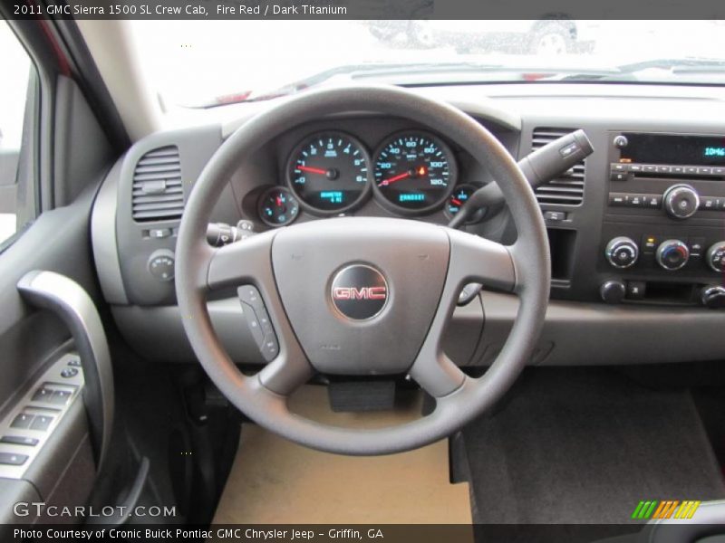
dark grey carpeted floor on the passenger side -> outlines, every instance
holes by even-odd
[[[476,522],[620,524],[640,500],[725,497],[690,393],[605,368],[527,370],[464,442]]]

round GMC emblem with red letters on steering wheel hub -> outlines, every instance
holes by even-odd
[[[330,296],[333,306],[352,320],[368,320],[380,315],[388,302],[388,283],[372,266],[353,264],[338,271]]]

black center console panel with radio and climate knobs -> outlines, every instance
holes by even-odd
[[[725,136],[610,132],[608,141],[601,298],[725,307]]]

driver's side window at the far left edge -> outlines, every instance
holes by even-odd
[[[27,52],[5,21],[0,20],[0,244],[32,219],[27,205],[34,186],[18,176],[23,148],[25,100],[31,70]],[[32,119],[32,116],[30,116]],[[30,200],[29,200],[30,199]],[[34,206],[33,206],[34,208]]]

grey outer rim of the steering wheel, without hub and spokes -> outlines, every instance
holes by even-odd
[[[519,309],[504,347],[488,371],[466,377],[439,398],[432,414],[399,426],[353,430],[304,419],[287,410],[286,397],[257,376],[243,376],[221,346],[208,315],[205,282],[212,249],[210,215],[228,179],[266,141],[292,126],[343,112],[371,111],[434,127],[488,167],[517,225],[509,247],[515,263]],[[354,219],[352,219],[354,220]],[[294,226],[293,226],[294,227]],[[232,404],[257,424],[314,449],[353,455],[386,454],[433,443],[494,404],[526,366],[546,316],[550,262],[546,226],[536,197],[513,157],[482,125],[448,104],[395,87],[365,85],[305,92],[248,120],[221,145],[195,183],[179,227],[176,291],[189,343],[202,367]]]

